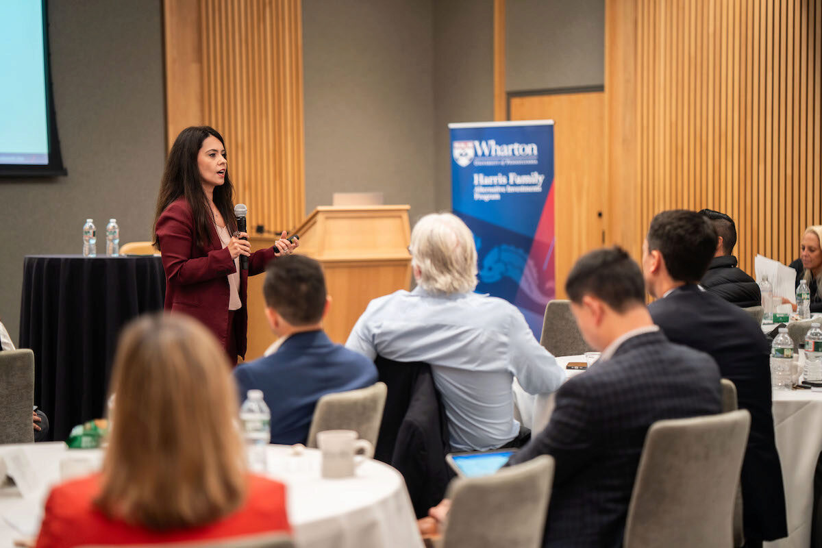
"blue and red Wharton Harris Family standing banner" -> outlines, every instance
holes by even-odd
[[[517,306],[536,338],[556,283],[553,124],[448,124],[454,213],[477,242],[477,292]]]

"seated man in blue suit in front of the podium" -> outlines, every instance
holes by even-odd
[[[271,410],[271,443],[304,444],[317,400],[373,385],[376,367],[332,343],[322,330],[330,297],[316,260],[291,255],[273,261],[263,293],[268,323],[279,340],[265,357],[234,370],[240,401],[248,390],[262,390]]]

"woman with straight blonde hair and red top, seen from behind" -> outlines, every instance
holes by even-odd
[[[225,352],[196,320],[129,325],[111,394],[102,472],[52,490],[38,548],[289,532],[284,486],[247,472]]]

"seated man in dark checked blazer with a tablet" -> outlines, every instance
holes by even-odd
[[[719,370],[653,325],[642,273],[625,251],[580,258],[566,292],[585,341],[603,353],[557,390],[548,426],[510,463],[541,454],[555,460],[543,546],[616,548],[645,433],[655,421],[720,412]],[[432,516],[442,518],[446,507]]]

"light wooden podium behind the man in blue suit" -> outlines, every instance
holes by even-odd
[[[319,260],[326,273],[331,307],[326,333],[345,343],[351,328],[373,298],[411,283],[408,205],[323,205],[294,231],[298,253]],[[252,237],[252,251],[272,246],[276,238]],[[261,357],[275,340],[266,320],[262,295],[265,275],[248,279],[247,360]]]

